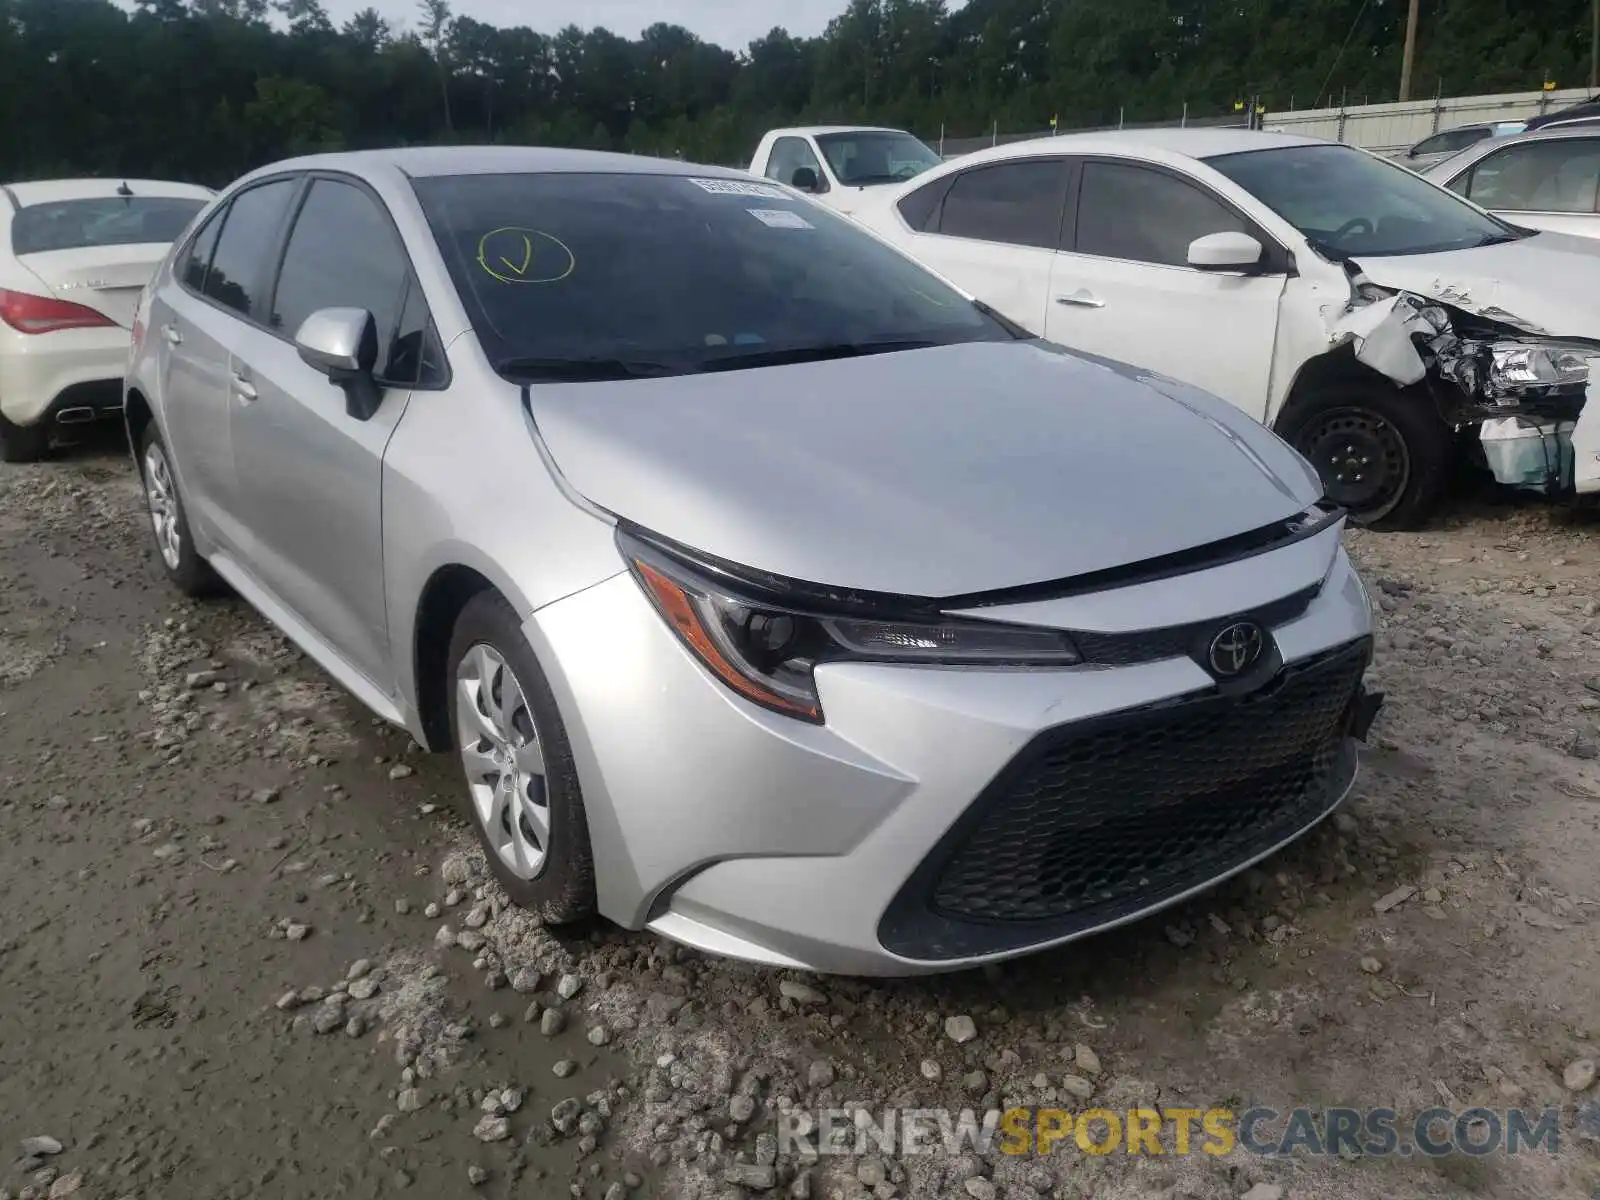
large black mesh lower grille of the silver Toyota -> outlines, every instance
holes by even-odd
[[[1354,771],[1346,717],[1370,640],[1245,696],[1042,734],[907,882],[883,944],[965,957],[1070,936],[1189,891],[1293,835]]]

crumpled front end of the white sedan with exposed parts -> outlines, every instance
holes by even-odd
[[[1464,307],[1467,298],[1448,288],[1384,288],[1349,269],[1350,302],[1330,320],[1334,346],[1350,344],[1358,362],[1402,387],[1426,384],[1458,430],[1477,426],[1501,483],[1550,498],[1600,490],[1600,405],[1582,421],[1600,339]]]

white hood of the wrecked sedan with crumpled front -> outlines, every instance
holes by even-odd
[[[1357,254],[1366,277],[1510,325],[1600,338],[1600,238],[1534,234],[1438,254]]]

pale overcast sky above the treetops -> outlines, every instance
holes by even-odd
[[[336,26],[357,10],[371,5],[389,21],[406,29],[418,26],[414,0],[323,0]],[[491,26],[530,26],[554,34],[563,26],[590,29],[605,26],[613,34],[637,37],[656,21],[683,26],[706,42],[728,50],[744,50],[773,26],[797,37],[821,34],[845,8],[845,0],[454,0],[456,16],[470,16]]]

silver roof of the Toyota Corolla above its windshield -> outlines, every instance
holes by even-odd
[[[606,174],[688,174],[710,179],[749,179],[747,171],[651,158],[608,150],[566,150],[550,146],[405,146],[390,150],[341,150],[283,158],[251,171],[246,179],[280,171],[349,171],[371,174],[400,171],[413,179],[443,174],[555,174],[598,171]]]

